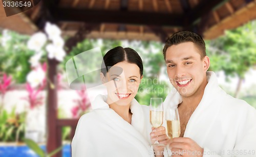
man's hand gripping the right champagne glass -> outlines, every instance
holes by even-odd
[[[190,138],[174,138],[169,142],[172,157],[202,157],[204,149]]]

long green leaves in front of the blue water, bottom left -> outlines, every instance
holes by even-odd
[[[24,140],[27,146],[29,146],[30,149],[32,149],[37,155],[40,157],[50,157],[59,152],[63,146],[58,147],[57,149],[53,150],[50,153],[46,153],[44,150],[42,150],[37,143],[35,143],[33,140],[25,139]]]

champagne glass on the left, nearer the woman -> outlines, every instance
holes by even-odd
[[[163,99],[162,98],[151,98],[150,99],[150,122],[153,127],[157,128],[163,124]],[[164,146],[155,141],[153,145]]]

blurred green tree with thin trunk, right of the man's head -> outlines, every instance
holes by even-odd
[[[237,29],[226,31],[225,35],[206,41],[207,53],[211,59],[210,70],[224,70],[226,76],[238,76],[239,82],[234,97],[238,97],[245,73],[256,65],[256,21]]]

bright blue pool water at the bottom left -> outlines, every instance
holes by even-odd
[[[46,150],[46,146],[40,146],[43,150]],[[36,153],[28,146],[0,146],[0,156],[2,157],[37,157]],[[71,156],[71,146],[65,145],[62,148],[62,156]]]

